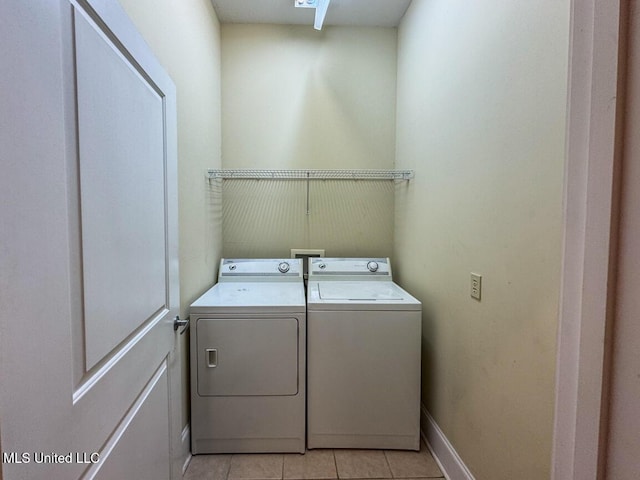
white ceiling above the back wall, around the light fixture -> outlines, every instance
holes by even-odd
[[[279,23],[313,28],[315,9],[294,0],[211,0],[221,23]],[[331,0],[324,25],[397,27],[411,0]]]

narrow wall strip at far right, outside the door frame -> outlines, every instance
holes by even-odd
[[[640,472],[640,12],[630,9],[606,478]]]

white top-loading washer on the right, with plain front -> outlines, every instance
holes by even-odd
[[[307,447],[420,449],[422,305],[388,258],[310,258]]]

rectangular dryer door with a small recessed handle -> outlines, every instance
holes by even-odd
[[[199,318],[198,395],[298,393],[297,318]]]

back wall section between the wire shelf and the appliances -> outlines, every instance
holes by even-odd
[[[308,202],[305,180],[227,180],[221,188],[224,257],[289,257],[291,248],[392,254],[391,181],[314,180]]]

